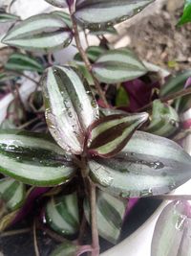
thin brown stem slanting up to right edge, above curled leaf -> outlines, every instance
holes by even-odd
[[[161,97],[159,98],[159,100],[162,102],[162,103],[167,103],[169,101],[174,101],[182,96],[186,96],[186,95],[189,95],[191,94],[191,87],[187,88],[187,89],[183,89],[183,90],[180,90],[178,92],[175,92],[175,93],[172,93],[170,95],[167,95],[165,97]],[[148,108],[151,108],[153,105],[153,102],[151,102],[150,104],[148,105],[144,105],[143,107],[140,107],[138,109],[138,111],[142,111],[142,110],[145,110],[145,109],[148,109]]]

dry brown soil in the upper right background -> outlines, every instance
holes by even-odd
[[[160,12],[144,16],[127,30],[130,46],[140,58],[173,73],[191,64],[191,23],[177,26],[183,3],[175,2],[165,2]]]

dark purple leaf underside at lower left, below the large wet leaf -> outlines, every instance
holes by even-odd
[[[49,190],[50,188],[46,188],[46,187],[34,188],[32,192],[29,194],[28,198],[26,199],[23,207],[19,210],[17,216],[12,221],[12,224],[22,221],[28,214],[30,214],[36,198],[41,197],[43,194],[47,193]]]

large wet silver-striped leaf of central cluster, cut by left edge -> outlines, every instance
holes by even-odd
[[[75,167],[71,158],[40,133],[0,131],[0,173],[36,186],[69,181]]]

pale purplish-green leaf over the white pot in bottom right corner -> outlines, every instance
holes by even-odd
[[[186,201],[174,201],[164,208],[155,227],[151,256],[190,255],[188,234],[191,232],[191,219],[187,218],[189,207]]]

